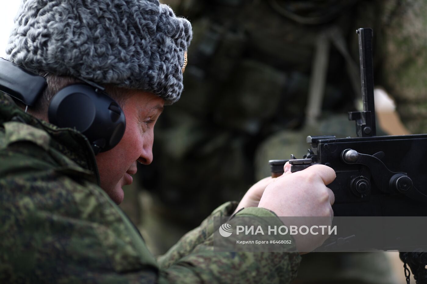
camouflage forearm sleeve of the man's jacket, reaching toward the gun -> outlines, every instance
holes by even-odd
[[[215,252],[213,217],[230,216],[236,202],[228,202],[215,209],[199,227],[188,232],[165,255],[158,258],[160,282],[232,283],[290,283],[296,276],[301,256],[290,246],[290,252]],[[246,208],[236,216],[275,217],[278,226],[283,223],[266,209]],[[271,220],[271,219],[269,219]],[[233,223],[231,218],[228,223]],[[274,224],[272,224],[274,225]],[[282,236],[291,239],[289,235]],[[293,240],[292,240],[292,243]]]

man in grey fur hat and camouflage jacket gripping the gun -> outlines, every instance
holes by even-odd
[[[297,238],[286,253],[217,253],[213,217],[270,216],[274,225],[283,224],[277,216],[330,217],[333,194],[325,184],[335,173],[325,165],[260,181],[158,260],[117,206],[137,162],[152,161],[164,104],[179,99],[190,38],[190,23],[157,0],[23,1],[7,53],[20,66],[48,73],[47,89],[28,111],[0,93],[2,283],[289,283],[295,277]],[[80,79],[104,85],[126,116],[119,144],[96,156],[86,136],[47,119],[52,96]]]

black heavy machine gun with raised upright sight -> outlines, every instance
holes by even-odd
[[[357,34],[363,111],[349,113],[357,137],[308,136],[310,148],[302,159],[291,155],[289,160],[269,161],[272,175],[283,173],[287,161],[291,172],[328,165],[336,172],[328,185],[335,194],[334,216],[427,216],[427,134],[376,136],[372,29],[358,29]],[[405,273],[408,264],[417,283],[427,283],[427,253],[400,256]]]

